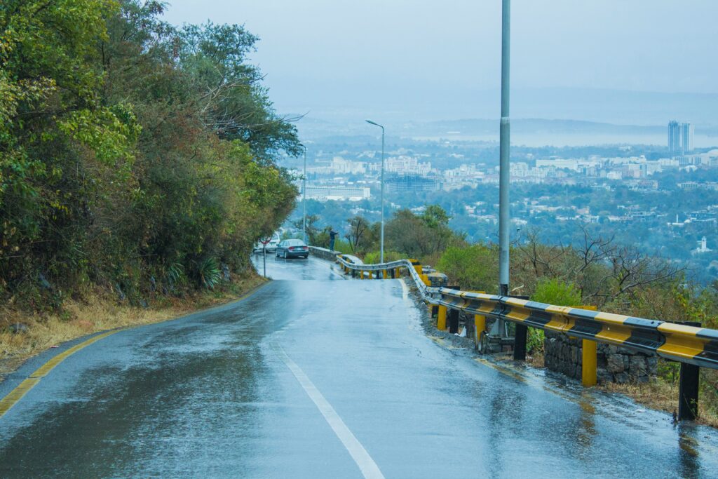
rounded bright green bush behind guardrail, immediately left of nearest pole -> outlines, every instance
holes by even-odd
[[[439,258],[437,270],[449,276],[449,284],[462,289],[496,292],[498,248],[481,243],[451,246]]]

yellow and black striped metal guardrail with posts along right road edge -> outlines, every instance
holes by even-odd
[[[416,260],[391,261],[384,264],[355,264],[351,259],[337,256],[337,262],[347,273],[365,279],[398,277],[406,270],[430,308],[438,307],[437,327],[445,329],[447,310],[460,310],[475,315],[476,325],[485,327],[485,318],[506,320],[517,325],[514,358],[524,359],[526,327],[558,332],[584,340],[584,385],[596,383],[595,343],[620,345],[634,350],[654,353],[681,363],[679,391],[679,419],[694,419],[698,404],[699,368],[718,369],[718,330],[675,322],[649,320],[642,317],[616,315],[580,307],[555,306],[477,292],[459,291],[446,287],[431,287],[428,276]],[[383,271],[379,274],[377,271]],[[519,332],[523,332],[522,335]],[[481,332],[477,331],[477,337]],[[518,344],[519,338],[523,345]],[[523,356],[516,355],[523,349]]]

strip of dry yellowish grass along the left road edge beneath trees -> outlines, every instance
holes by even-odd
[[[170,320],[206,307],[241,297],[266,280],[251,275],[238,279],[223,290],[200,292],[187,297],[157,297],[148,308],[118,304],[115,296],[95,290],[81,300],[68,299],[62,312],[52,315],[0,309],[0,381],[27,358],[67,340],[116,327],[145,325]],[[27,325],[27,332],[13,333],[9,325]]]

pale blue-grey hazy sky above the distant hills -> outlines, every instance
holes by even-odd
[[[252,60],[271,98],[289,111],[430,104],[498,88],[500,6],[174,0],[165,18],[244,24],[261,39]],[[513,0],[512,88],[718,93],[717,19],[717,0]]]

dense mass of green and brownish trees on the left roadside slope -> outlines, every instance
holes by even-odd
[[[137,0],[0,6],[0,299],[213,287],[292,210],[296,130],[237,25]],[[224,267],[225,264],[227,267]]]

